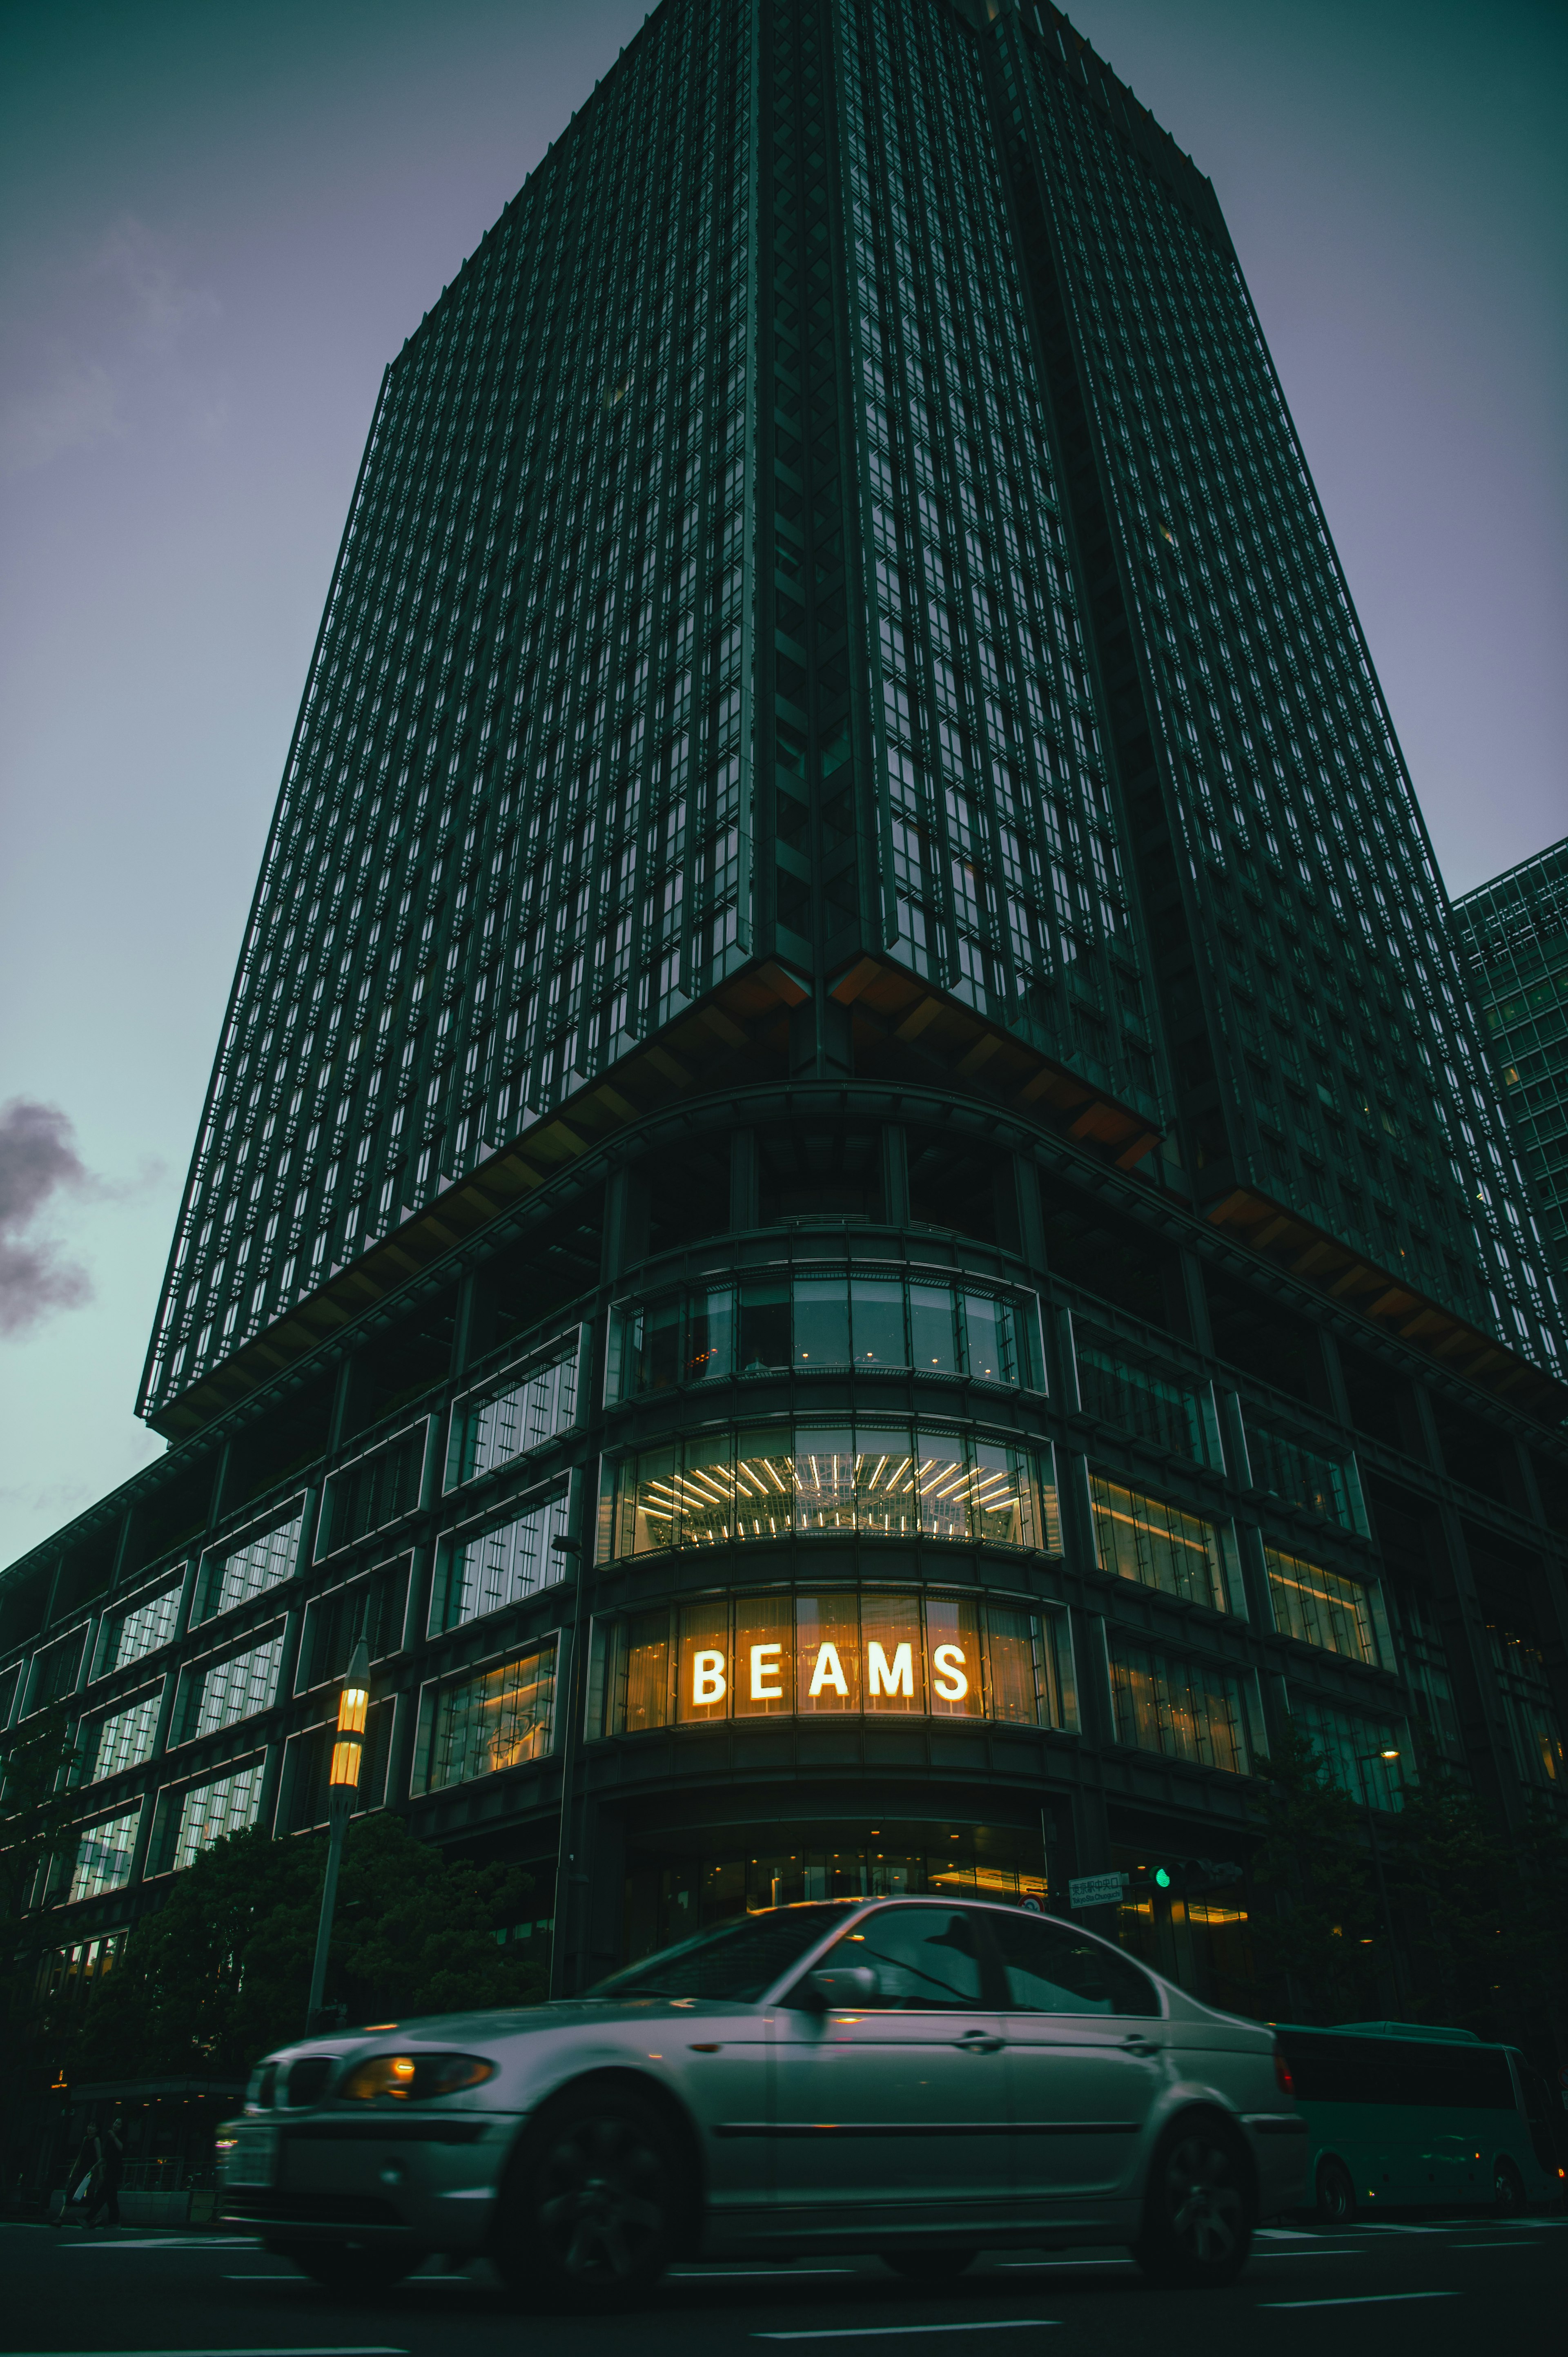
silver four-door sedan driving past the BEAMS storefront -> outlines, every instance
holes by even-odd
[[[1273,2034],[1075,1923],[969,1900],[773,1907],[589,1996],[290,2046],[219,2131],[219,2213],[318,2282],[486,2253],[611,2308],[672,2258],[1127,2244],[1226,2284],[1304,2190]]]

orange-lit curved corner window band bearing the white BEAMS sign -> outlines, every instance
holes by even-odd
[[[1075,1728],[1066,1612],[891,1589],[745,1591],[594,1629],[594,1735],[858,1714]]]

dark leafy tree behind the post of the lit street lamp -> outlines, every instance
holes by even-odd
[[[87,2008],[73,2077],[243,2077],[304,2034],[325,1836],[231,1834],[174,1879],[132,1930]],[[516,1867],[448,1860],[382,1810],[349,1827],[328,2001],[356,2020],[408,2020],[545,1996],[498,1930],[528,1909]]]

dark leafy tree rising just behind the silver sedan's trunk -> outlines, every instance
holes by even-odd
[[[1361,1808],[1294,1721],[1285,1721],[1257,1777],[1264,1841],[1252,1881],[1264,1907],[1252,1916],[1252,1945],[1269,2006],[1297,2022],[1365,2018],[1377,1989],[1379,1923]]]

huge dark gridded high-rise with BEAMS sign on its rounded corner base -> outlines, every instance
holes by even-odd
[[[1214,191],[1049,7],[665,0],[387,370],[174,1445],[7,1582],[59,1937],[321,1822],[365,1626],[568,1985],[1106,1869],[1243,2001],[1285,1714],[1561,1782],[1561,1351]]]

